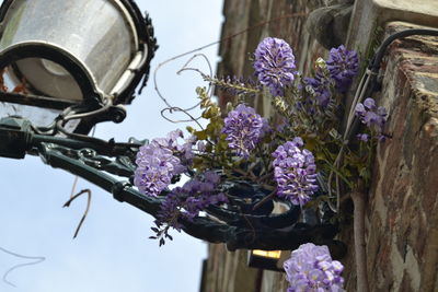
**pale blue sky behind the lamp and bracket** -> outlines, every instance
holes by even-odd
[[[152,70],[165,59],[215,42],[222,22],[221,0],[138,0],[148,10],[160,45]],[[204,52],[217,62],[218,47]],[[158,73],[160,89],[173,104],[196,103],[195,73],[176,75],[185,57]],[[204,71],[207,67],[198,62]],[[175,127],[161,118],[163,103],[153,91],[152,79],[141,96],[128,106],[128,117],[119,125],[104,124],[96,137],[126,141],[163,137]],[[36,266],[13,271],[0,281],[2,292],[192,292],[198,291],[201,260],[207,245],[187,235],[173,233],[174,242],[159,248],[148,240],[152,218],[126,203],[119,203],[100,188],[80,180],[78,189],[93,194],[91,211],[77,240],[71,240],[85,207],[85,197],[68,209],[73,176],[44,165],[38,157],[0,159],[0,247],[27,256],[44,256]],[[28,262],[0,253],[0,276],[18,264]],[[1,277],[0,277],[1,278]]]

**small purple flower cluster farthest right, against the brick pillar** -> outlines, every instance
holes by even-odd
[[[377,107],[374,100],[367,98],[364,103],[358,103],[355,110],[356,116],[359,117],[362,124],[381,136],[384,122],[387,121],[387,109],[384,107]],[[364,136],[359,139],[365,141]]]

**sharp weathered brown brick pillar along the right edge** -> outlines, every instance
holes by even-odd
[[[369,192],[371,290],[438,291],[438,37],[393,43],[385,67],[380,103],[392,138],[378,149]]]

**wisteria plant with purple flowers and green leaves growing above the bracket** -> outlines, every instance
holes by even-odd
[[[253,66],[256,81],[203,74],[210,84],[234,94],[235,102],[221,113],[207,90],[198,87],[207,127],[188,127],[192,137],[184,144],[178,144],[177,138],[183,137],[176,131],[139,151],[137,187],[146,196],[163,197],[157,227],[152,229],[160,244],[170,237],[170,227],[183,227],[180,219],[192,220],[201,210],[208,213],[211,206],[247,212],[237,207],[234,195],[227,192],[232,183],[246,182],[266,190],[258,201],[245,198],[254,206],[250,212],[272,199],[323,212],[328,206],[338,212],[335,206],[342,194],[339,184],[332,186],[332,177],[343,183],[344,192],[354,189],[359,180],[369,180],[372,149],[384,137],[384,108],[367,98],[353,113],[366,127],[357,137],[339,133],[343,94],[358,74],[356,51],[344,46],[333,48],[327,60],[318,59],[312,75],[303,78],[296,71],[289,45],[268,37],[257,46]],[[266,119],[242,102],[252,101],[254,95],[268,98],[276,116]],[[180,174],[191,180],[171,189]],[[321,269],[330,264],[328,259],[320,261]],[[337,266],[331,266],[336,275]]]

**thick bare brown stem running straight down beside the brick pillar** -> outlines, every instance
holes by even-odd
[[[360,185],[360,184],[359,184]],[[365,243],[365,191],[361,188],[350,194],[354,211],[354,241],[356,261],[356,291],[368,292],[367,249]]]

